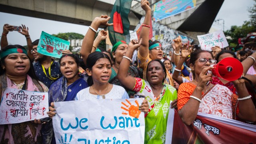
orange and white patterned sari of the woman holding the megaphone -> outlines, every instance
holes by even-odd
[[[178,90],[178,110],[180,110],[190,99],[196,85],[192,83],[182,83]],[[236,119],[239,113],[238,96],[233,94],[226,86],[216,84],[206,93],[202,93],[202,103],[198,112],[213,114],[223,118]]]

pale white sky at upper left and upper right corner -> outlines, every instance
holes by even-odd
[[[253,4],[254,0],[225,0],[218,15],[216,16],[216,20],[224,19],[224,30],[228,30],[232,25],[241,26],[245,20],[249,20],[248,7],[253,6]],[[85,35],[88,30],[88,26],[0,12],[0,33],[3,31],[2,27],[4,24],[14,26],[21,26],[21,24],[25,24],[29,28],[32,41],[40,38],[42,31],[49,34],[76,32]],[[219,24],[218,22],[214,22],[212,27],[214,29],[222,29],[222,21],[220,21]],[[27,45],[25,36],[16,31],[9,32],[7,38],[10,44],[20,44],[22,46]]]

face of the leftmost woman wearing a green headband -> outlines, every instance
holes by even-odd
[[[6,74],[10,76],[24,76],[30,69],[30,60],[26,54],[13,53],[4,59]]]

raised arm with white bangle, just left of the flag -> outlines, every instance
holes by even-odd
[[[81,51],[80,51],[80,54],[81,54],[81,56],[84,60],[84,64],[86,64],[86,60],[88,58],[88,55],[92,52],[92,45],[93,45],[94,37],[95,37],[95,34],[96,34],[99,26],[101,26],[101,25],[103,25],[103,26],[113,25],[113,24],[108,24],[109,19],[110,19],[109,16],[101,15],[100,17],[94,18],[94,20],[92,21],[92,24],[90,25],[91,28],[89,28],[89,30],[86,32],[86,35],[84,36],[84,40],[82,42],[82,47],[81,47]],[[94,32],[94,30],[96,32]]]

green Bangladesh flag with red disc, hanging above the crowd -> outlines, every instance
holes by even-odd
[[[108,26],[109,39],[112,45],[120,40],[130,41],[130,21],[128,14],[132,6],[132,0],[116,0],[112,12],[110,14],[109,23],[113,26]]]

